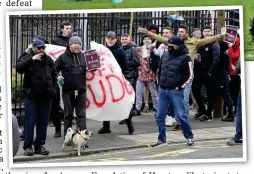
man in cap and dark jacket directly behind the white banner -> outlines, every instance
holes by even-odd
[[[127,80],[130,80],[131,76],[129,73],[129,64],[128,59],[124,50],[120,47],[119,43],[116,40],[116,33],[113,31],[109,31],[106,35],[106,47],[112,52],[114,55],[118,65],[122,69],[122,73]],[[132,115],[129,115],[129,118],[126,120],[126,125],[128,128],[129,134],[134,133],[134,126],[132,123]],[[103,121],[103,127],[98,131],[99,134],[111,133],[110,130],[110,122]]]

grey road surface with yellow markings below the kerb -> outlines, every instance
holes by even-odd
[[[237,159],[243,157],[242,145],[227,146],[228,140],[199,141],[193,146],[174,143],[157,147],[144,147],[111,151],[81,157],[35,160],[32,163],[70,163],[70,162],[118,162],[182,159]]]

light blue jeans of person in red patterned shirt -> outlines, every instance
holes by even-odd
[[[145,85],[147,85],[149,91],[151,92],[153,107],[154,109],[157,110],[158,95],[157,95],[156,81],[143,82],[139,79],[137,80],[137,84],[136,84],[136,109],[141,110]]]

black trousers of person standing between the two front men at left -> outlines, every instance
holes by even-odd
[[[50,118],[55,126],[55,132],[61,132],[61,113],[60,106],[60,89],[57,88],[57,94],[52,98],[52,107],[50,112]]]

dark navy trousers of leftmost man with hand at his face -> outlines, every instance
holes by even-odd
[[[25,98],[25,141],[24,149],[34,145],[40,148],[45,144],[47,137],[48,121],[51,110],[51,99],[35,100]],[[34,127],[36,125],[36,138],[34,139]]]

